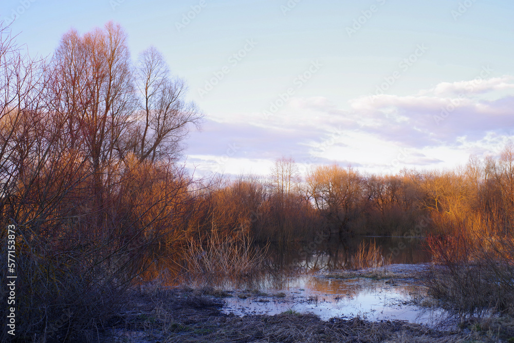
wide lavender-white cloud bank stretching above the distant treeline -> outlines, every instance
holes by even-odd
[[[292,156],[304,165],[334,161],[380,171],[405,151],[395,168],[444,166],[489,151],[514,132],[513,80],[443,82],[407,96],[360,97],[344,109],[325,97],[291,98],[267,118],[211,115],[191,137],[189,154],[209,168],[223,156],[232,169]]]

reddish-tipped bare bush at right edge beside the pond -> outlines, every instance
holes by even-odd
[[[514,315],[514,242],[457,222],[453,236],[431,238],[436,266],[429,273],[429,294],[462,316]]]

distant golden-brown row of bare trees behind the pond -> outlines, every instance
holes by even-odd
[[[208,203],[218,213],[217,227],[246,227],[260,242],[308,242],[318,234],[340,240],[348,234],[445,236],[455,234],[455,222],[505,233],[514,215],[513,151],[507,145],[497,159],[471,156],[455,170],[397,175],[315,166],[303,179],[291,158],[281,158],[268,177],[240,177],[210,189]]]

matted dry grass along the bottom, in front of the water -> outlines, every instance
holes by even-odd
[[[488,331],[441,332],[403,321],[369,322],[292,311],[237,317],[195,291],[134,295],[105,341],[146,342],[497,342]],[[108,340],[107,340],[108,339]]]

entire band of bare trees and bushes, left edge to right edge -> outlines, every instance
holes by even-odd
[[[250,267],[255,242],[457,237],[464,226],[511,234],[511,146],[455,171],[381,176],[333,165],[302,179],[281,158],[264,178],[193,179],[177,161],[203,114],[155,48],[132,62],[126,41],[113,23],[70,30],[51,58],[34,59],[0,27],[0,224],[3,242],[16,228],[19,339],[90,340],[163,259],[183,272],[212,257],[211,268],[232,273],[234,263]]]

